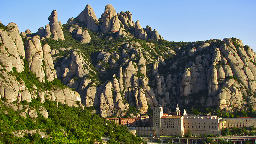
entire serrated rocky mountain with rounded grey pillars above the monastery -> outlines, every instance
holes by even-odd
[[[240,39],[168,42],[110,4],[99,19],[90,5],[66,24],[57,16],[53,10],[36,33],[20,33],[15,23],[1,27],[0,95],[7,102],[40,97],[95,107],[102,117],[177,103],[223,112],[256,108],[256,53]],[[53,85],[43,89],[17,78],[24,71]]]

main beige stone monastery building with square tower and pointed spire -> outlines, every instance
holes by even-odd
[[[181,115],[178,105],[174,115],[163,113],[163,107],[152,107],[152,110],[150,126],[154,127],[155,136],[184,136],[188,130],[191,134],[221,135],[221,129],[226,127],[226,121],[217,116],[187,115],[185,110]]]

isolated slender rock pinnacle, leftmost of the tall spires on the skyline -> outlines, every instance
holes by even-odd
[[[58,14],[56,10],[53,10],[51,12],[51,15],[48,17],[49,25],[51,33],[56,32],[59,39],[65,40],[63,31],[61,29],[61,26],[58,22]],[[46,29],[46,28],[45,28]]]

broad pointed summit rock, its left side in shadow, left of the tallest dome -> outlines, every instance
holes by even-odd
[[[99,29],[96,24],[96,22],[99,21],[90,5],[85,6],[84,10],[77,16],[77,19],[84,21],[86,23],[86,27],[92,31],[97,31]]]

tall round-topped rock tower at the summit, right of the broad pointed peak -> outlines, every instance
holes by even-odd
[[[103,15],[103,14],[102,14]],[[119,19],[115,12],[114,7],[111,4],[105,6],[105,12],[103,17],[103,23],[101,25],[101,31],[106,34],[107,32],[118,32],[120,28]]]

